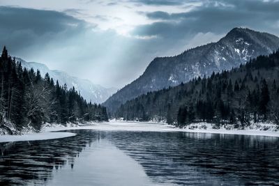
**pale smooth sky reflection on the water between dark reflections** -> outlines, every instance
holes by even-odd
[[[75,168],[56,171],[47,185],[153,185],[142,166],[107,139],[93,142],[75,161]]]

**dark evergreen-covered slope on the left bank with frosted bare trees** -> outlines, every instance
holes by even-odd
[[[22,68],[8,55],[0,57],[0,129],[10,134],[31,127],[39,131],[43,123],[107,121],[106,108],[86,102],[75,88],[67,88],[40,71]]]

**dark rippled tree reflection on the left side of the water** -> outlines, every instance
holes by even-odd
[[[52,178],[53,169],[73,167],[86,144],[104,138],[103,132],[86,130],[66,139],[0,144],[0,185],[34,185]]]

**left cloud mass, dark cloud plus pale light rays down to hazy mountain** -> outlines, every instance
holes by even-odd
[[[104,86],[132,81],[161,49],[152,39],[120,36],[56,11],[0,7],[0,25],[0,45],[10,54]]]

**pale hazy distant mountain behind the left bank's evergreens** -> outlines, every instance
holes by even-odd
[[[34,70],[40,70],[40,74],[42,77],[45,76],[46,73],[50,75],[54,79],[59,81],[59,84],[67,84],[68,88],[72,88],[75,86],[75,90],[80,91],[82,97],[91,102],[96,102],[98,104],[107,100],[113,93],[116,92],[116,88],[104,88],[103,86],[93,84],[87,79],[80,79],[77,77],[72,77],[68,75],[66,72],[60,70],[50,70],[46,65],[42,63],[36,62],[27,62],[23,59],[17,58],[16,61],[20,61],[22,63],[23,68]]]

